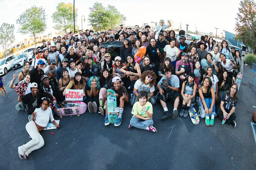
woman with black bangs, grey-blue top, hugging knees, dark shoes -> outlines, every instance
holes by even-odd
[[[188,117],[188,109],[192,99],[196,96],[197,84],[195,83],[195,74],[189,73],[188,80],[183,82],[181,89],[181,96],[183,98],[180,117]]]

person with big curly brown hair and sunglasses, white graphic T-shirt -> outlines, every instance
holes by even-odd
[[[130,104],[134,105],[138,101],[138,94],[140,91],[147,92],[148,101],[154,105],[156,104],[156,98],[153,96],[156,84],[156,74],[152,70],[145,71],[141,74],[133,87],[133,93],[130,98]]]

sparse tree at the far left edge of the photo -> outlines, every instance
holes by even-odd
[[[6,49],[10,46],[11,41],[13,41],[14,39],[14,25],[3,23],[0,27],[0,45],[3,48],[4,56]]]

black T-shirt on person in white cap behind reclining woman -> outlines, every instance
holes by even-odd
[[[39,105],[42,103],[42,95],[37,92],[36,96],[33,96],[32,93],[29,93],[22,97],[22,101],[27,105],[27,113],[31,115],[35,108],[39,108]]]

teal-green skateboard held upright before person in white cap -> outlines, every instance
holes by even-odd
[[[116,92],[112,89],[107,90],[107,109],[108,119],[110,123],[115,123],[117,120],[117,113],[115,113],[116,104]]]

